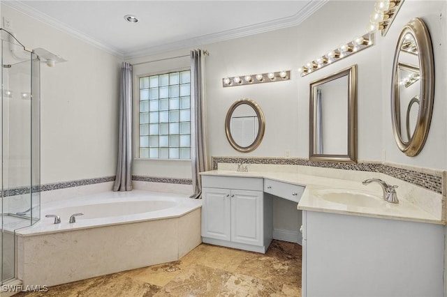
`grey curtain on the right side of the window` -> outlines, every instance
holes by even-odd
[[[199,173],[208,170],[205,117],[205,50],[191,50],[191,165],[193,195],[200,198],[202,182]]]

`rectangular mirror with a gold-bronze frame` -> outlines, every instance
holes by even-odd
[[[357,162],[357,65],[310,84],[309,160]]]

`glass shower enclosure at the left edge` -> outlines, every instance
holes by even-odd
[[[15,230],[40,220],[40,61],[1,33],[1,284],[15,277]]]

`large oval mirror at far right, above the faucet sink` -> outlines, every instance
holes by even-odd
[[[400,33],[391,86],[391,119],[397,146],[406,155],[418,155],[430,128],[434,96],[432,42],[419,18],[411,20]]]

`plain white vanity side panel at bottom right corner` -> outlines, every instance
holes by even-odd
[[[302,296],[444,296],[444,226],[303,211]]]

